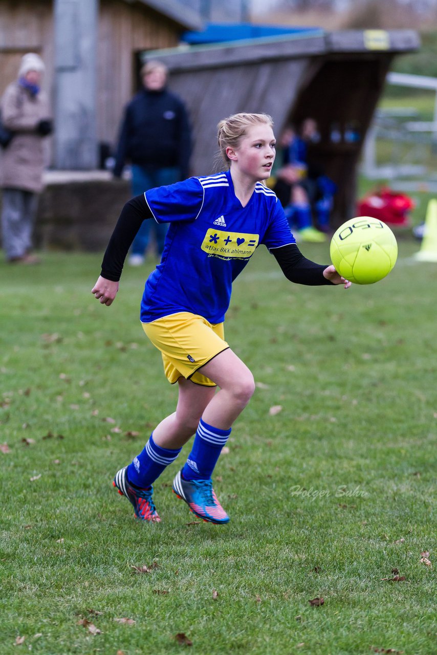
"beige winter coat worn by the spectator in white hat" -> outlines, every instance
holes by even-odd
[[[0,153],[0,187],[39,192],[43,188],[45,137],[37,124],[50,119],[45,92],[31,96],[28,90],[9,84],[1,100],[1,119],[5,127],[16,131],[12,141]]]

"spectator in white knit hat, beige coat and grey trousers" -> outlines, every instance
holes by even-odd
[[[52,131],[47,95],[40,88],[44,70],[39,55],[25,54],[18,79],[1,100],[3,125],[14,135],[0,157],[2,244],[10,263],[39,261],[31,254],[31,237],[43,188],[43,140]]]

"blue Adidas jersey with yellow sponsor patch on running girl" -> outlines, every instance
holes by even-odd
[[[170,227],[161,263],[145,283],[143,323],[176,312],[221,323],[232,282],[257,246],[295,243],[275,193],[257,182],[243,207],[229,171],[150,189],[145,198],[157,223]]]

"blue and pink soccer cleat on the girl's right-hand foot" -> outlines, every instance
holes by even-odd
[[[209,523],[228,523],[229,516],[217,500],[212,479],[184,480],[181,471],[173,480],[173,493],[185,500],[191,512]]]

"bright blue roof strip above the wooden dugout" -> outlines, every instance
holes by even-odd
[[[319,33],[320,28],[279,28],[275,25],[252,25],[250,23],[206,23],[206,28],[202,31],[183,33],[181,41],[191,45],[200,45],[202,43],[260,39],[304,32]]]

